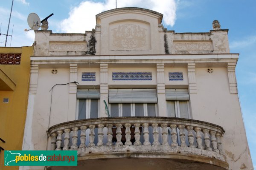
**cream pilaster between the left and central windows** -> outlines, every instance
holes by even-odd
[[[108,64],[100,64],[100,117],[108,117],[104,100],[108,105]]]

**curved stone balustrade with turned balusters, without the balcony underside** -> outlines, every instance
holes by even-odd
[[[94,153],[158,155],[175,153],[197,156],[197,158],[201,156],[204,158],[202,162],[205,163],[209,163],[209,159],[214,159],[218,162],[215,165],[225,169],[228,167],[222,154],[223,128],[193,119],[169,117],[83,119],[54,125],[47,133],[51,150],[78,150],[78,156],[91,156]],[[208,161],[205,158],[208,158]]]

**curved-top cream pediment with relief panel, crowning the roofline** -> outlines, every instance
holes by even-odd
[[[144,8],[116,8],[96,15],[100,26],[101,54],[156,54],[163,14]]]

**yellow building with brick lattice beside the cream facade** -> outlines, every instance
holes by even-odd
[[[0,170],[4,150],[22,150],[33,47],[0,47]]]

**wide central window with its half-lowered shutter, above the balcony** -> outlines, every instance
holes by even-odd
[[[156,89],[109,89],[111,117],[156,116]]]

